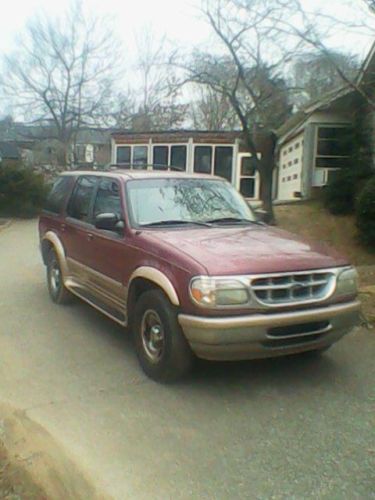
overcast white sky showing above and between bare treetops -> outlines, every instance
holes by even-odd
[[[267,0],[263,0],[267,2]],[[301,0],[307,11],[319,11],[341,20],[364,19],[375,21],[370,16],[363,0]],[[69,8],[70,0],[15,0],[8,1],[0,16],[0,58],[4,53],[17,49],[17,35],[22,35],[28,20],[38,15],[59,16]],[[164,35],[174,45],[189,48],[213,50],[218,45],[200,13],[201,0],[82,0],[84,10],[95,16],[109,16],[113,31],[122,42],[122,64],[126,68],[124,84],[138,87],[136,62],[136,39],[142,32],[162,38]],[[359,30],[363,31],[363,30]],[[375,26],[372,31],[375,33]],[[373,38],[373,37],[372,37]],[[372,38],[363,34],[350,34],[337,30],[329,40],[331,48],[357,54],[363,59],[369,51]],[[327,40],[325,40],[327,44]],[[205,45],[205,47],[203,47]],[[188,89],[184,90],[184,94]],[[188,95],[188,94],[186,94]],[[11,103],[0,103],[1,114],[14,113]]]

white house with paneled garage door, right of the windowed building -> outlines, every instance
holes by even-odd
[[[374,95],[375,43],[355,85],[346,85],[292,116],[278,131],[275,198],[310,198],[337,171],[351,165],[352,134],[361,127],[369,139],[375,165],[375,113],[367,96]]]

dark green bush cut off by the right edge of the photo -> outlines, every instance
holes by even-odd
[[[359,194],[356,219],[361,242],[375,248],[375,175]]]

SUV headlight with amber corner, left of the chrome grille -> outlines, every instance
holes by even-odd
[[[234,306],[249,302],[246,286],[229,278],[194,278],[190,283],[190,295],[195,303],[205,307]]]

